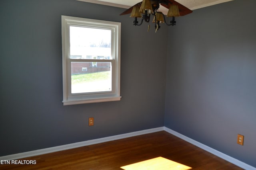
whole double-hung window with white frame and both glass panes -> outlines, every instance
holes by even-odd
[[[121,23],[62,16],[63,104],[118,101]]]

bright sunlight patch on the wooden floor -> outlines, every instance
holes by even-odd
[[[157,157],[149,160],[144,160],[134,164],[120,167],[124,170],[189,170],[191,167],[180,164],[178,162]]]

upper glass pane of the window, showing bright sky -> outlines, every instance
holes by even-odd
[[[112,59],[111,30],[70,26],[71,59]]]

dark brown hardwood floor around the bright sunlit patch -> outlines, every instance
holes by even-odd
[[[36,164],[0,165],[0,169],[122,170],[122,166],[159,156],[191,170],[242,170],[165,131],[24,158]]]

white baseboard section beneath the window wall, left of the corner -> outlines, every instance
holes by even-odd
[[[50,147],[50,148],[45,148],[45,149],[38,149],[38,150],[32,150],[32,151],[28,151],[28,152],[22,152],[22,153],[18,153],[18,154],[11,154],[11,155],[7,155],[7,156],[0,156],[0,160],[16,160],[16,159],[20,159],[20,158],[27,158],[30,156],[36,156],[36,155],[40,155],[40,154],[47,154],[47,153],[57,152],[57,151],[61,151],[61,150],[68,150],[68,149],[73,149],[73,148],[78,148],[78,147],[84,147],[84,146],[88,146],[88,145],[94,145],[94,144],[98,144],[98,143],[114,141],[114,140],[118,140],[118,139],[124,139],[124,138],[128,138],[128,137],[134,137],[134,136],[138,136],[138,135],[144,135],[144,134],[154,133],[154,132],[163,131],[163,130],[164,130],[164,127],[157,127],[157,128],[153,128],[153,129],[146,129],[146,130],[142,130],[142,131],[124,133],[121,135],[114,135],[114,136],[110,136],[110,137],[93,139],[93,140],[89,140],[89,141],[71,143],[71,144],[61,145],[61,146],[57,146],[57,147]]]

